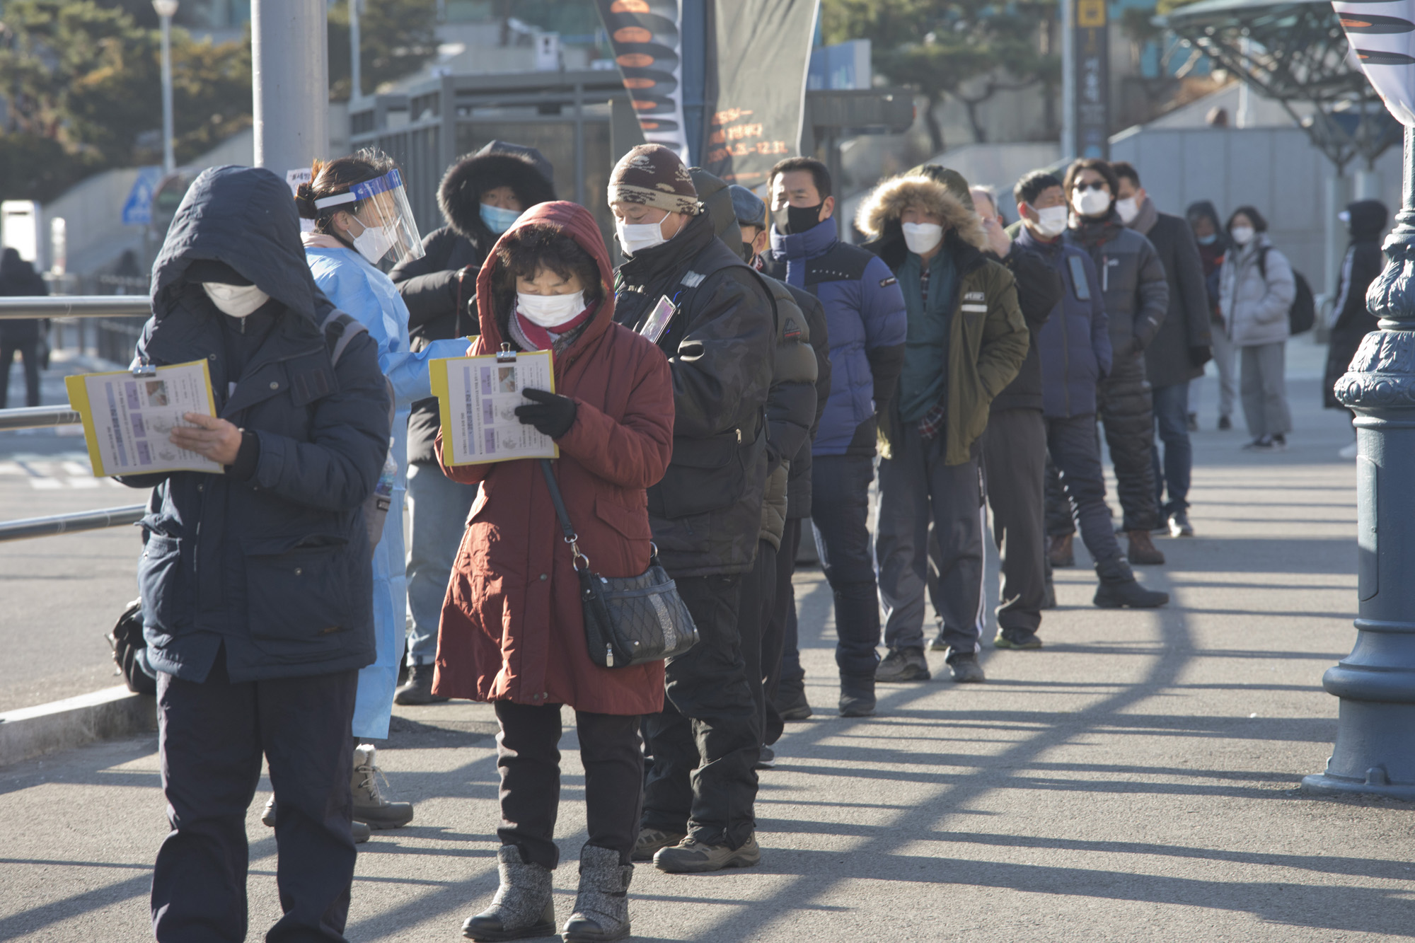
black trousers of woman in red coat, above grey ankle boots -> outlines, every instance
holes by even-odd
[[[555,818],[560,807],[560,705],[497,701],[497,769],[501,770],[501,825],[497,837],[516,845],[522,861],[555,868]],[[584,811],[596,848],[633,862],[642,803],[644,750],[638,715],[574,712],[584,765]]]

